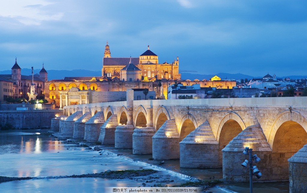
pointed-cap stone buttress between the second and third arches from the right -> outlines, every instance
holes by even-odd
[[[180,167],[217,168],[219,143],[210,124],[205,121],[180,143]]]

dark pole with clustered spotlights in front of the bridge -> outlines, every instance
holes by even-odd
[[[261,159],[258,158],[257,154],[252,155],[253,149],[249,147],[245,147],[243,154],[249,155],[249,161],[246,159],[241,165],[247,168],[249,164],[250,168],[250,193],[253,193],[253,175],[255,175],[258,179],[261,178],[262,173],[258,170],[256,165],[253,165],[253,161],[255,163],[259,162]]]

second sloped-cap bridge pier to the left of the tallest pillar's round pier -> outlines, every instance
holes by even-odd
[[[97,112],[86,123],[84,128],[84,140],[88,142],[97,142],[100,135],[100,127],[104,123],[103,111]]]

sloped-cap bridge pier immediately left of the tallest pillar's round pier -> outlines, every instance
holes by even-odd
[[[118,126],[117,115],[113,114],[100,127],[100,135],[98,141],[103,145],[115,144],[115,128]]]

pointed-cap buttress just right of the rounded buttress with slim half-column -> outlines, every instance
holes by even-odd
[[[153,135],[153,159],[179,159],[179,138],[175,119],[167,120]]]

